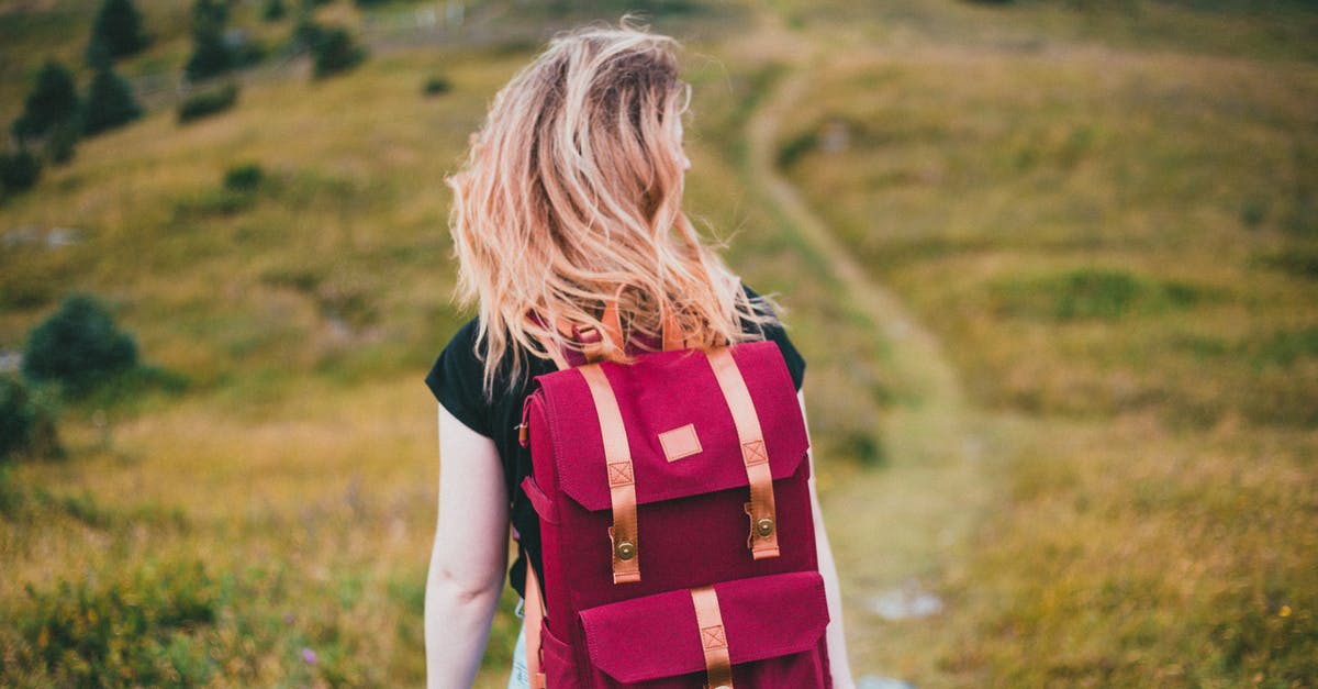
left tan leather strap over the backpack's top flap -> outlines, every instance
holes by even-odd
[[[583,366],[581,376],[590,387],[594,410],[600,417],[604,437],[604,459],[609,475],[609,502],[613,503],[613,527],[609,541],[613,546],[613,583],[641,581],[641,544],[637,537],[637,483],[627,446],[627,429],[622,425],[622,410],[613,387],[598,364]]]

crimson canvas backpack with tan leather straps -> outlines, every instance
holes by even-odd
[[[604,322],[622,342],[616,308]],[[778,344],[619,364],[573,335],[592,363],[559,356],[523,408],[544,565],[543,587],[527,568],[531,686],[832,686],[809,440]]]

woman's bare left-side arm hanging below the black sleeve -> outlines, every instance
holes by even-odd
[[[426,680],[471,686],[507,566],[507,495],[494,441],[439,407],[439,519],[426,579]]]

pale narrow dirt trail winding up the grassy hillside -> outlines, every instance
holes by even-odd
[[[857,677],[917,677],[921,685],[945,684],[929,645],[940,645],[940,615],[886,620],[880,598],[894,591],[937,590],[956,572],[963,545],[987,498],[982,433],[965,404],[956,371],[938,339],[902,301],[869,277],[829,227],[774,165],[783,116],[807,94],[818,53],[800,36],[774,30],[774,41],[792,62],[749,123],[750,177],[764,201],[776,205],[789,231],[799,234],[833,267],[841,298],[886,339],[888,362],[913,388],[882,420],[890,463],[849,476],[822,499],[846,602],[846,628]],[[900,597],[899,597],[900,598]],[[954,615],[945,608],[942,615]]]

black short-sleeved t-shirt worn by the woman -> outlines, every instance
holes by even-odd
[[[750,288],[746,288],[746,293],[755,297]],[[754,331],[755,326],[747,323],[746,329]],[[484,391],[485,362],[476,351],[477,333],[478,321],[473,318],[453,335],[426,376],[426,385],[455,418],[494,441],[503,466],[509,513],[521,544],[517,561],[509,572],[509,582],[518,594],[522,594],[527,558],[534,564],[535,572],[542,574],[540,523],[521,487],[522,479],[531,475],[531,453],[518,442],[517,426],[522,422],[522,404],[532,392],[532,380],[535,376],[556,371],[556,367],[548,359],[526,356],[521,380],[510,389],[510,358],[505,358],[494,377],[493,399],[488,399]],[[787,333],[778,326],[766,327],[764,339],[778,343],[787,362],[787,371],[792,375],[792,383],[797,391],[801,389],[805,360],[792,346]]]

